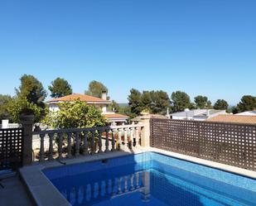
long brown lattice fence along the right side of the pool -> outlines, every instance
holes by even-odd
[[[151,146],[256,170],[256,125],[151,119]]]

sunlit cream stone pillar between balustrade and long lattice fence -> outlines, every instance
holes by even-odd
[[[144,127],[141,132],[141,146],[150,146],[150,115],[144,115],[140,121]]]

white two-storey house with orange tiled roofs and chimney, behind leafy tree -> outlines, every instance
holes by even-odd
[[[96,107],[101,108],[104,116],[112,124],[119,125],[119,124],[122,124],[123,122],[126,122],[128,119],[128,116],[126,115],[107,111],[107,107],[111,102],[107,100],[106,93],[102,93],[102,98],[95,98],[93,96],[80,94],[80,93],[72,93],[70,95],[67,95],[61,98],[53,98],[50,101],[47,101],[46,103],[49,105],[50,111],[56,112],[60,110],[58,103],[75,102],[75,100],[77,99],[79,99],[80,101],[86,102],[88,104],[94,104]]]

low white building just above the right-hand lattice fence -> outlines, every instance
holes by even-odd
[[[220,114],[226,114],[225,110],[215,110],[215,109],[186,109],[184,112],[171,113],[171,119],[181,119],[181,120],[196,120],[205,121],[211,117],[218,116]]]

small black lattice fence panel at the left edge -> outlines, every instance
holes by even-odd
[[[22,128],[0,129],[0,170],[22,166]]]

